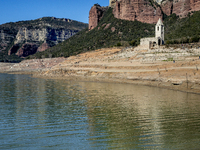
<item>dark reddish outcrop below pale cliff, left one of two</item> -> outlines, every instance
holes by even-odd
[[[37,52],[38,45],[33,43],[25,43],[16,53],[19,57],[27,57],[29,55],[35,54]]]

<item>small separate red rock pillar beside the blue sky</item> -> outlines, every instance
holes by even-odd
[[[89,30],[94,29],[97,25],[100,19],[103,17],[103,13],[106,11],[107,8],[101,7],[99,5],[94,5],[90,9],[89,13]]]

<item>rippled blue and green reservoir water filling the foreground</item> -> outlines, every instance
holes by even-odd
[[[0,149],[200,149],[200,95],[0,74]]]

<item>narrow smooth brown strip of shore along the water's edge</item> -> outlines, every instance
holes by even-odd
[[[182,81],[182,83],[163,82],[159,80],[145,80],[145,79],[117,79],[117,78],[96,78],[96,77],[83,77],[83,76],[43,76],[38,74],[32,74],[34,78],[44,79],[57,79],[57,80],[68,80],[68,81],[79,81],[79,82],[101,82],[101,83],[122,83],[122,84],[133,84],[141,86],[150,86],[163,89],[169,89],[174,91],[200,94],[200,83],[193,81]],[[196,88],[195,88],[196,87]]]

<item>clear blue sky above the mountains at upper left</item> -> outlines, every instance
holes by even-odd
[[[48,16],[88,23],[96,3],[108,6],[109,0],[0,0],[0,24]]]

